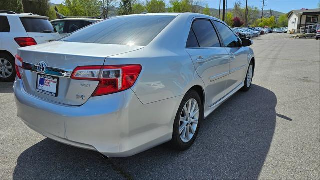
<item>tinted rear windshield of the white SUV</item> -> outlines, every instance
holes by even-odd
[[[21,17],[21,22],[26,32],[54,32],[52,24],[47,19]]]

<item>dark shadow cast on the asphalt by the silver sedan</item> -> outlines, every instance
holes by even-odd
[[[237,92],[202,121],[186,151],[162,144],[104,160],[97,152],[44,139],[17,160],[14,179],[257,179],[272,141],[277,99],[258,85]]]

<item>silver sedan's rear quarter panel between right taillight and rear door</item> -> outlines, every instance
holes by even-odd
[[[113,64],[141,64],[142,70],[132,90],[143,104],[183,95],[193,85],[204,86],[185,50],[172,52],[145,47],[107,57],[105,65]]]

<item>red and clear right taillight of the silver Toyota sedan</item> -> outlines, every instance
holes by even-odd
[[[76,67],[72,79],[98,80],[92,96],[106,95],[126,90],[135,83],[141,72],[141,65],[106,65]]]

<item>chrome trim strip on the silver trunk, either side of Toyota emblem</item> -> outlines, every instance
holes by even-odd
[[[30,70],[32,72],[43,73],[47,75],[53,75],[58,77],[71,77],[71,73],[73,69],[65,69],[65,68],[56,68],[56,67],[48,67],[46,66],[44,72],[37,71],[37,65],[31,64],[27,62],[22,62],[23,69]]]

